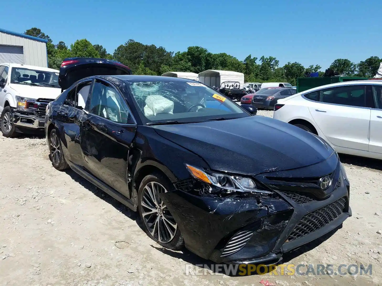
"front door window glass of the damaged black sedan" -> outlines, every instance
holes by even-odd
[[[89,112],[117,123],[134,123],[125,101],[117,90],[98,80],[92,88]]]

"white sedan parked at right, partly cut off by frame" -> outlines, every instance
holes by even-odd
[[[319,135],[338,153],[382,159],[382,80],[297,93],[278,100],[274,118]]]

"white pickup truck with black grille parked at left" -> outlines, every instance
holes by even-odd
[[[0,129],[5,137],[44,130],[45,109],[61,93],[59,71],[0,64]]]

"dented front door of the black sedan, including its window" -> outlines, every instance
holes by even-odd
[[[131,112],[117,89],[99,79],[86,105],[89,114],[80,127],[85,168],[129,198],[128,153],[136,131]]]

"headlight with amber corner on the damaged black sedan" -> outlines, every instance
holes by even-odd
[[[209,193],[212,193],[213,188],[215,188],[224,193],[249,192],[272,194],[271,191],[259,190],[254,180],[248,177],[210,172],[188,164],[186,164],[186,167],[196,180],[206,183],[209,186]]]

